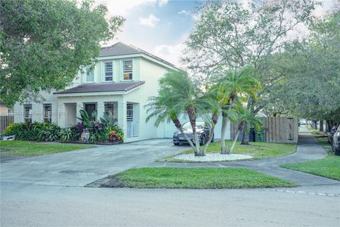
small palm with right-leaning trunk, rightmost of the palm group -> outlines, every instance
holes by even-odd
[[[254,128],[256,128],[257,131],[259,131],[262,125],[261,119],[254,116],[254,114],[251,113],[251,110],[249,108],[246,108],[242,105],[238,105],[237,109],[239,111],[239,116],[238,116],[239,126],[237,128],[237,133],[234,137],[234,141],[232,142],[232,145],[229,148],[229,152],[228,152],[229,154],[231,154],[232,150],[234,150],[234,146],[236,144],[237,138],[239,137],[239,133],[242,130],[245,130],[246,133],[249,133],[250,127],[253,126]]]

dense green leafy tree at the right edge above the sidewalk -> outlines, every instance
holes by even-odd
[[[340,122],[340,12],[310,26],[310,36],[273,55],[271,74],[280,80],[266,96],[266,113]],[[264,71],[263,71],[264,72]]]

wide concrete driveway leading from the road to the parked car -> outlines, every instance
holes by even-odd
[[[154,139],[8,160],[1,162],[1,182],[84,186],[186,149],[171,139]]]

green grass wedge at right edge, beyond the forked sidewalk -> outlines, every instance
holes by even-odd
[[[340,181],[340,156],[334,154],[329,154],[327,157],[320,160],[295,162],[292,164],[280,165],[280,167]]]

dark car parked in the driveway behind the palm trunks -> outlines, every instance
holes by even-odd
[[[193,142],[193,128],[191,128],[191,123],[190,122],[184,123],[182,128],[183,128],[183,132],[186,133],[186,136],[188,136],[188,138]],[[211,128],[210,126],[208,126],[207,123],[198,121],[196,122],[196,132],[197,132],[198,138],[200,139],[200,145],[204,145],[208,141]],[[179,130],[177,130],[174,133],[173,142],[174,142],[174,145],[179,145],[180,143],[188,143],[188,141],[186,141],[186,139],[184,138],[184,136]],[[211,142],[214,142],[213,135],[212,135]]]

